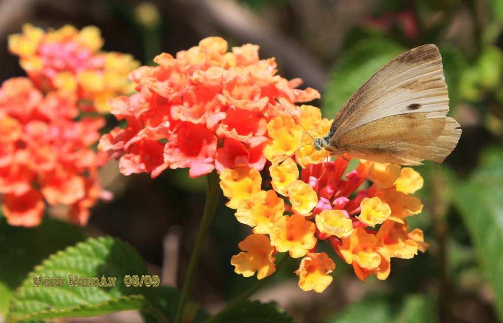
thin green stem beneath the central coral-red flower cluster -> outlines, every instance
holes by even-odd
[[[192,249],[189,267],[187,268],[187,273],[185,275],[184,286],[182,288],[177,311],[175,313],[175,323],[181,322],[185,302],[187,301],[187,298],[189,296],[194,273],[199,262],[201,248],[206,241],[206,237],[208,236],[211,220],[213,220],[220,195],[221,190],[218,184],[218,174],[213,171],[210,174],[206,175],[206,202],[204,204],[203,218],[201,219],[201,224],[196,236],[196,242],[194,243],[194,248]]]

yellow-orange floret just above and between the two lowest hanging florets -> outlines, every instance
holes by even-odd
[[[271,245],[279,252],[288,251],[292,258],[303,257],[316,245],[315,232],[314,223],[304,217],[297,214],[283,216],[271,230]]]

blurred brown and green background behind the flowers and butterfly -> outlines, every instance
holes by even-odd
[[[418,194],[425,209],[409,226],[425,231],[431,248],[412,260],[393,259],[386,281],[372,276],[362,283],[339,261],[332,284],[321,294],[298,288],[293,274],[298,262],[292,261],[254,297],[278,302],[299,323],[484,323],[503,318],[502,0],[4,0],[2,81],[24,75],[17,57],[7,51],[7,36],[27,22],[42,28],[96,25],[105,50],[131,53],[142,64],[153,64],[160,52],[195,46],[206,36],[222,36],[229,47],[258,44],[261,58],[276,57],[279,74],[300,77],[304,86],[320,90],[322,99],[314,105],[329,119],[397,54],[437,44],[450,115],[463,134],[442,165],[416,167],[425,178]],[[109,117],[110,127],[114,120]],[[100,235],[129,242],[152,273],[162,273],[164,284],[180,286],[202,214],[204,179],[189,179],[185,170],[166,171],[155,180],[148,174],[125,177],[110,162],[102,170],[102,183],[115,198],[94,207],[83,231],[51,219],[35,229],[0,223],[3,248],[16,250],[0,259],[20,264],[16,272],[0,268],[0,291],[17,285],[48,254]],[[223,202],[194,285],[195,301],[210,312],[255,280],[235,274],[230,265],[237,243],[250,230]],[[57,218],[58,210],[52,213]],[[61,234],[50,234],[55,229]],[[16,243],[5,237],[16,237]],[[2,300],[0,306],[5,306]],[[131,314],[105,320],[135,319]]]

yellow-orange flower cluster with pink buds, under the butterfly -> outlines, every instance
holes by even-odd
[[[321,292],[336,267],[326,253],[317,252],[324,240],[362,281],[372,274],[386,279],[391,258],[412,258],[428,248],[423,232],[409,232],[405,219],[423,209],[421,200],[410,196],[423,178],[410,167],[365,160],[348,169],[350,156],[331,160],[312,145],[295,152],[312,142],[301,124],[314,136],[327,133],[331,124],[314,106],[298,110],[298,119],[279,115],[267,125],[270,181],[249,166],[220,174],[226,205],[236,209],[237,221],[253,227],[239,244],[242,252],[231,259],[235,272],[246,277],[257,272],[262,279],[275,271],[274,255],[288,252],[302,258],[295,272],[300,288]],[[285,157],[293,153],[294,158]],[[367,180],[371,185],[362,185]]]

